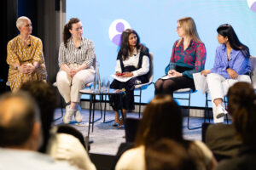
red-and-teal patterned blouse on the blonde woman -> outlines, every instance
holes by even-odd
[[[187,67],[191,70],[184,71],[183,76],[193,78],[193,73],[203,71],[207,57],[207,51],[204,43],[195,42],[191,40],[189,47],[183,50],[183,39],[177,46],[177,40],[172,47],[172,57],[170,60],[170,67],[166,70],[175,69],[175,65]]]

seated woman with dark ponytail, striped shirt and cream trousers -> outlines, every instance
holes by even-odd
[[[59,49],[60,71],[56,82],[61,96],[67,103],[64,123],[74,116],[76,122],[82,121],[79,111],[79,90],[93,82],[95,71],[92,65],[95,58],[94,45],[83,37],[83,26],[78,18],[72,18],[64,26],[63,42]]]

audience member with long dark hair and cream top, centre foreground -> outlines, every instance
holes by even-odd
[[[120,157],[115,169],[146,169],[145,150],[160,139],[172,139],[182,144],[189,156],[193,158],[196,169],[212,169],[216,161],[211,150],[200,141],[183,139],[183,116],[171,95],[156,96],[143,111],[140,122],[136,148],[127,150]]]

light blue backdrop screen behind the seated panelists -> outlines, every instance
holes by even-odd
[[[67,20],[78,17],[84,25],[84,37],[95,43],[102,77],[113,74],[118,47],[111,42],[108,29],[113,20],[126,20],[154,54],[154,82],[164,75],[172,45],[178,39],[177,20],[190,16],[195,20],[201,41],[207,48],[206,69],[211,69],[218,46],[216,29],[231,24],[241,42],[256,55],[256,13],[246,0],[67,0]],[[143,102],[154,97],[154,86],[143,91]],[[181,105],[186,105],[181,102]],[[192,95],[193,106],[204,106],[205,95]]]

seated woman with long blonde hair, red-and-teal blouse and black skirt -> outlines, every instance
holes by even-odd
[[[154,94],[173,94],[180,88],[195,88],[192,74],[204,70],[206,48],[201,42],[190,17],[177,20],[177,35],[181,39],[174,42],[170,64],[166,67],[167,79],[155,82]]]

